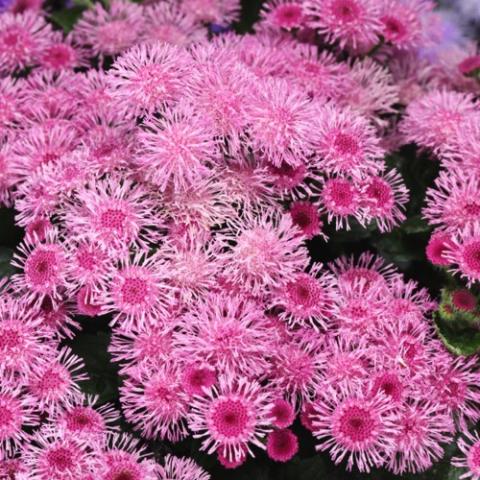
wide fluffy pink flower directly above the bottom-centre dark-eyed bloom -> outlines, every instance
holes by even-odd
[[[267,368],[272,333],[260,305],[239,296],[211,294],[182,316],[174,333],[180,358],[207,362],[245,377]]]

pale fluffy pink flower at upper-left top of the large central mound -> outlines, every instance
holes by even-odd
[[[133,116],[152,114],[180,98],[188,72],[186,52],[166,43],[143,43],[119,57],[109,70],[112,97]]]

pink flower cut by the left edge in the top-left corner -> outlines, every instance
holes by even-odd
[[[14,73],[33,65],[38,53],[48,45],[51,27],[35,12],[0,16],[0,71]]]

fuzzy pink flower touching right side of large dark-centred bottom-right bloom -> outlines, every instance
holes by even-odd
[[[443,445],[452,441],[455,431],[451,416],[441,405],[415,401],[403,405],[395,453],[388,468],[396,475],[423,472],[444,455]]]

